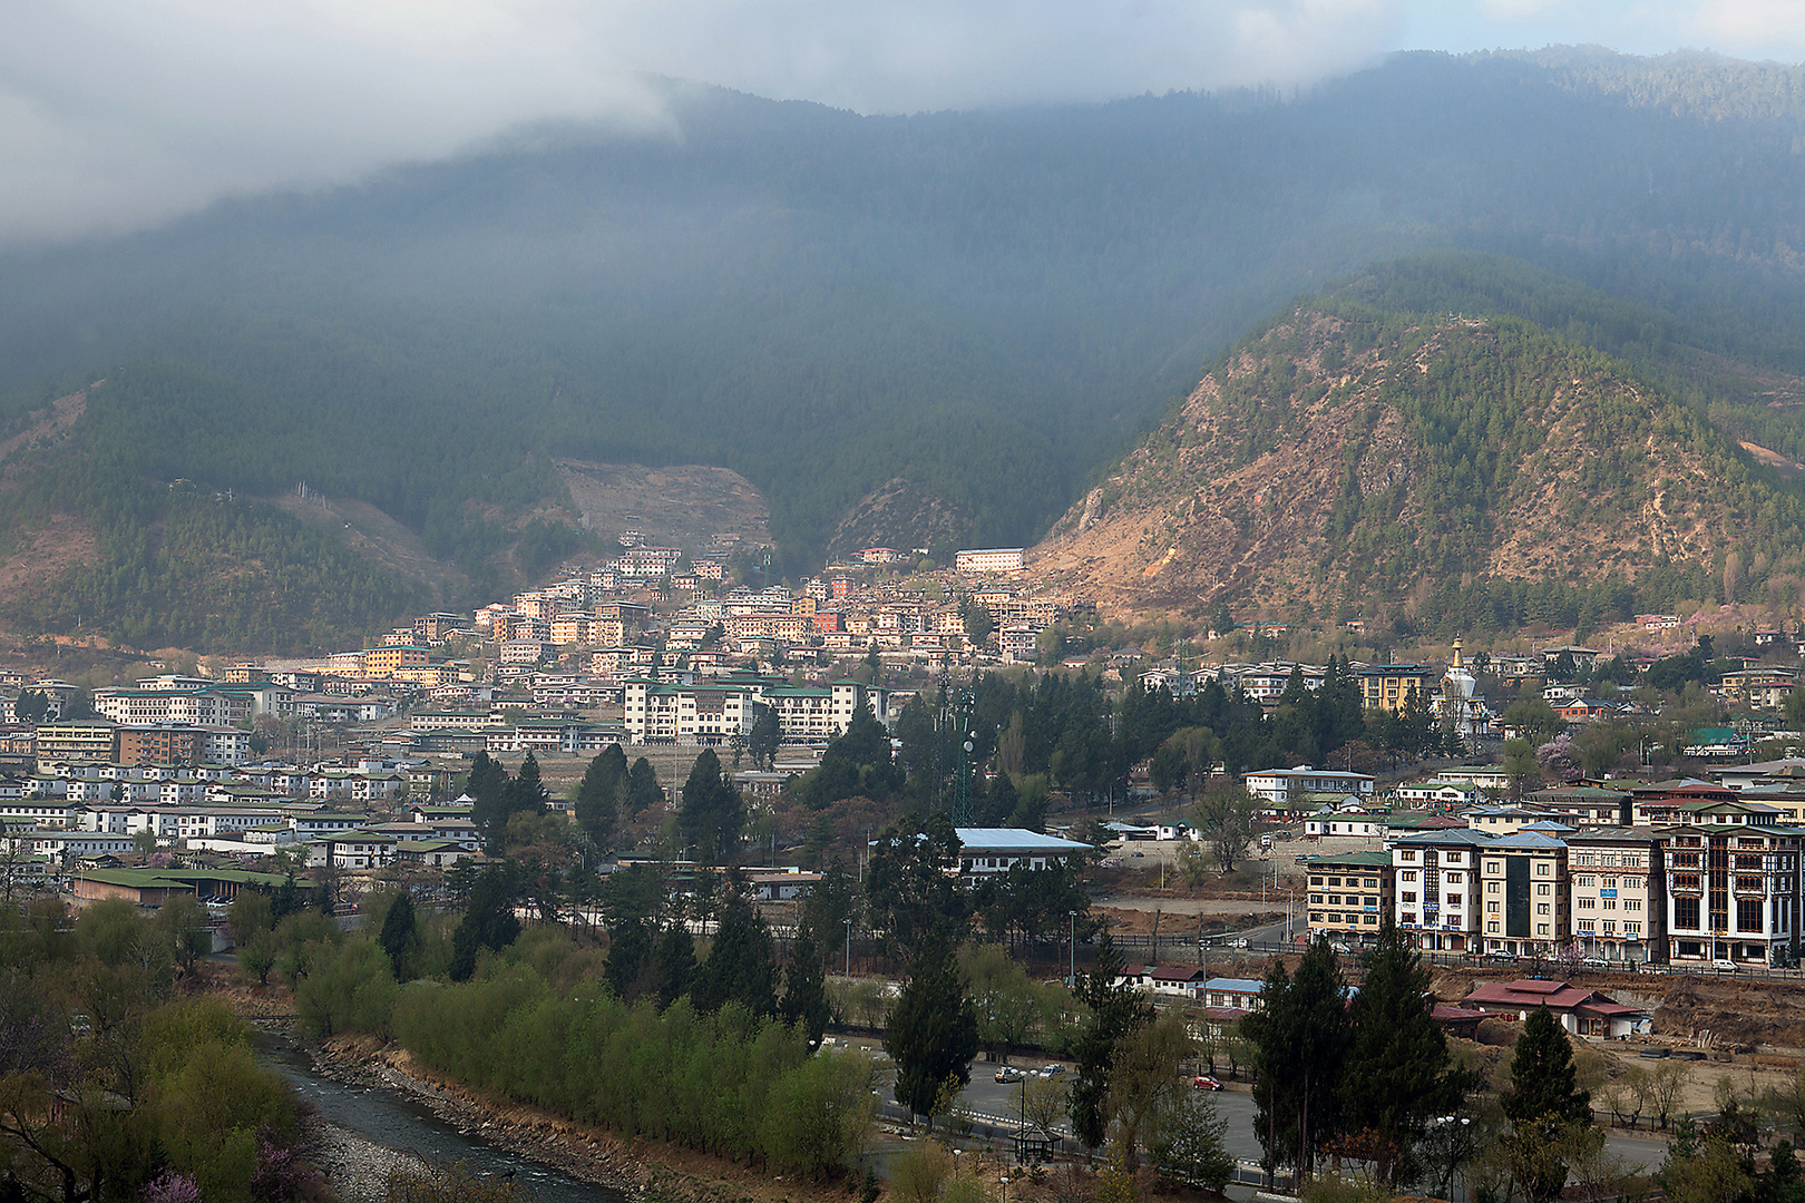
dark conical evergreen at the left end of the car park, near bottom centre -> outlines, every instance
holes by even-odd
[[[948,1080],[971,1082],[978,1053],[978,1015],[946,927],[915,949],[908,981],[884,1028],[884,1051],[895,1062],[895,1100],[915,1115],[933,1115]]]

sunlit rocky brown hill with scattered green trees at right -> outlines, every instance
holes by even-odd
[[[1623,364],[1516,319],[1303,307],[1229,352],[1034,566],[1123,613],[1381,611],[1448,583],[1735,593],[1796,491]]]

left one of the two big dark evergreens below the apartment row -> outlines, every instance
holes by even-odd
[[[1341,967],[1318,938],[1296,976],[1274,961],[1260,992],[1260,1010],[1242,1021],[1254,1046],[1254,1136],[1265,1165],[1309,1172],[1319,1151],[1341,1133],[1341,1066],[1348,1019]]]

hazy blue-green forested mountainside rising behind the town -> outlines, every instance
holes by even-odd
[[[1805,373],[1801,96],[1592,51],[912,117],[668,85],[680,137],[543,130],[9,253],[0,420],[106,377],[85,445],[370,501],[478,590],[522,521],[560,521],[552,456],[718,464],[798,572],[836,537],[1031,541],[1274,307],[1486,251],[1579,298],[1554,328],[1801,460],[1769,395]],[[1384,287],[1511,312],[1514,285]]]

